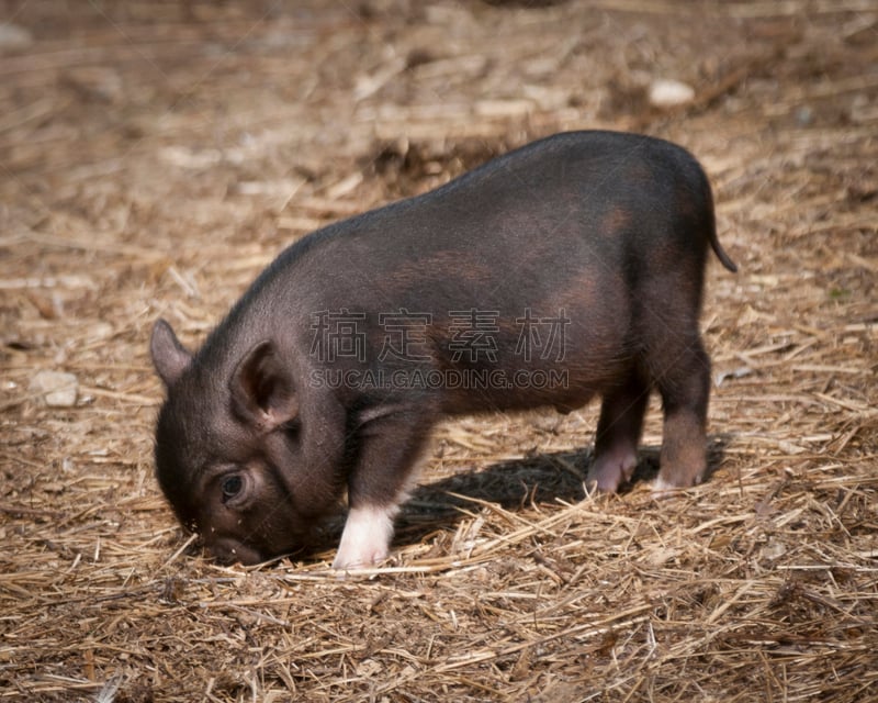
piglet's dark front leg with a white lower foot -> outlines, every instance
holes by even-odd
[[[390,555],[393,520],[414,479],[428,423],[397,414],[362,428],[360,453],[348,479],[348,518],[334,569],[368,568]]]

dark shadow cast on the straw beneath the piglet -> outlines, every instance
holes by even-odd
[[[706,481],[722,464],[731,437],[711,435],[709,440]],[[634,475],[619,493],[624,495],[638,483],[653,480],[658,473],[658,446],[641,446]],[[510,512],[524,511],[531,504],[577,503],[586,496],[585,477],[592,459],[590,448],[533,454],[420,484],[412,491],[396,517],[393,546],[399,548],[426,540],[441,546],[461,521],[483,509],[482,503],[499,505]],[[319,538],[307,549],[311,556],[336,548],[344,521],[341,514],[325,525]],[[441,533],[447,533],[448,537],[442,537]]]

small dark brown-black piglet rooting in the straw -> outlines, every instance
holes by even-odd
[[[389,555],[430,428],[603,399],[587,484],[630,480],[649,393],[661,492],[706,469],[708,180],[667,142],[571,132],[285,249],[192,354],[159,320],[158,481],[222,561],[306,544],[347,493],[334,566]]]

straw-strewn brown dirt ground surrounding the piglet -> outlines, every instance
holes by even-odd
[[[584,127],[713,182],[709,480],[651,498],[657,402],[618,496],[596,405],[474,417],[385,567],[206,558],[153,322],[196,345],[295,238]],[[877,205],[875,0],[0,2],[0,701],[878,701]]]

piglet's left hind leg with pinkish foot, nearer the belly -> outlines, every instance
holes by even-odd
[[[604,394],[595,460],[586,478],[589,491],[615,492],[631,479],[638,464],[638,443],[649,394],[649,383],[637,368],[629,371],[621,386]]]

